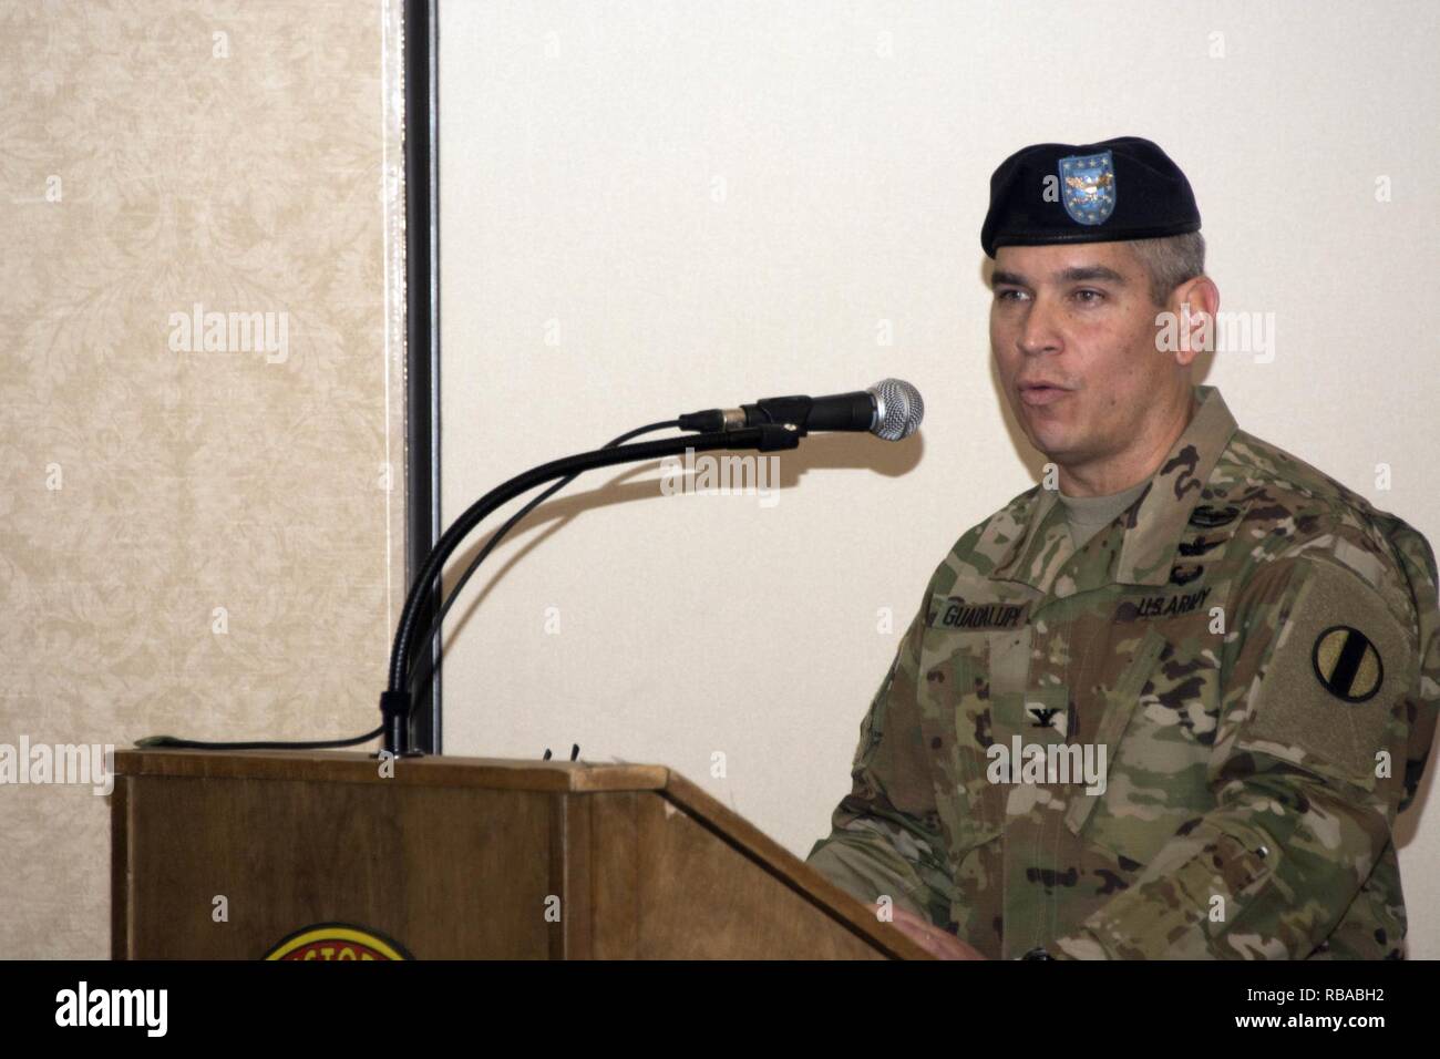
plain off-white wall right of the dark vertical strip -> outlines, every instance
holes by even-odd
[[[1421,1],[442,0],[446,519],[696,408],[887,375],[927,403],[910,442],[785,455],[772,507],[664,497],[654,465],[572,486],[456,611],[446,751],[579,742],[678,768],[801,856],[827,833],[926,579],[1041,463],[995,388],[979,248],[989,174],[1030,143],[1165,147],[1223,308],[1276,321],[1273,362],[1197,380],[1440,540],[1437,29]],[[1437,817],[1403,831],[1423,957]]]

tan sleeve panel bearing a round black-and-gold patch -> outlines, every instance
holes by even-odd
[[[1274,644],[1253,679],[1237,746],[1372,791],[1377,755],[1394,751],[1388,729],[1403,723],[1416,680],[1411,633],[1351,571],[1319,560],[1297,565],[1295,576],[1299,588],[1251,625],[1253,634],[1273,630]]]

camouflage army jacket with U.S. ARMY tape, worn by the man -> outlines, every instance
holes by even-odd
[[[1040,486],[960,537],[812,866],[991,958],[1404,955],[1434,553],[1194,392],[1079,552]]]

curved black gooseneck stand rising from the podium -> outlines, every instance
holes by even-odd
[[[802,425],[765,422],[756,426],[740,426],[729,431],[684,434],[677,438],[598,448],[590,452],[564,457],[563,460],[553,460],[524,474],[518,474],[467,507],[451,523],[451,527],[445,530],[441,539],[435,542],[435,548],[431,549],[425,565],[410,585],[410,591],[405,599],[405,609],[400,611],[400,622],[395,631],[395,641],[390,645],[389,686],[380,693],[384,751],[392,755],[418,754],[410,746],[410,707],[413,699],[409,690],[410,651],[415,643],[416,625],[419,624],[425,604],[429,601],[432,592],[435,592],[435,585],[441,571],[445,569],[445,562],[461,546],[465,537],[495,509],[546,481],[566,478],[598,467],[613,467],[616,464],[660,460],[667,455],[683,455],[687,450],[694,452],[716,450],[778,452],[798,448],[805,434],[806,429]]]

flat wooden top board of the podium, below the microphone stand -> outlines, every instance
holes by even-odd
[[[382,764],[386,769],[382,769]],[[389,775],[383,772],[387,771]],[[354,751],[115,751],[115,775],[325,779],[418,787],[484,787],[521,791],[662,791],[664,765],[516,758],[379,758]]]

